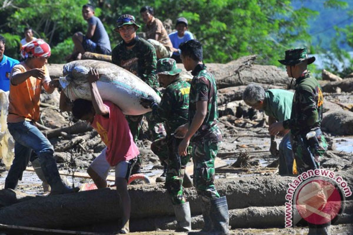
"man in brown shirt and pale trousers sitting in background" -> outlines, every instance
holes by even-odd
[[[173,45],[170,42],[168,33],[162,21],[153,16],[154,11],[150,6],[144,6],[140,10],[143,22],[146,24],[146,38],[151,43],[157,53],[157,58],[168,58],[172,56]]]

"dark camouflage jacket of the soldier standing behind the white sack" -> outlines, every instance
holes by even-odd
[[[131,50],[127,50],[125,42],[121,41],[112,51],[112,61],[138,76],[150,87],[159,86],[156,75],[156,50],[146,40],[138,38]]]

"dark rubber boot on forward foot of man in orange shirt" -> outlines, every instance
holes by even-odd
[[[58,166],[52,153],[45,153],[39,156],[44,178],[51,187],[50,195],[78,192],[79,188],[69,188],[62,183]]]

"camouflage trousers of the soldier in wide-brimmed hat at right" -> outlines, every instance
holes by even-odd
[[[318,140],[318,144],[316,146],[313,146],[313,144],[308,143],[308,141],[305,138],[305,135],[301,137],[303,138],[305,145],[308,146],[311,154],[315,158],[316,168],[319,168],[321,158],[327,150],[327,142],[321,130],[317,130],[316,133],[317,133],[316,137]],[[301,174],[305,171],[309,171],[310,169],[312,169],[312,167],[310,167],[311,159],[308,159],[309,158],[308,154],[305,154],[304,152],[305,149],[303,147],[303,144],[300,143],[300,141],[298,140],[298,137],[299,136],[291,135],[291,143],[292,143],[292,149],[294,153],[294,159],[297,164],[297,171],[298,171],[298,174]]]

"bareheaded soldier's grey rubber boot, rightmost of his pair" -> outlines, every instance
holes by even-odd
[[[210,217],[213,224],[212,234],[229,234],[229,212],[226,196],[211,200]]]

